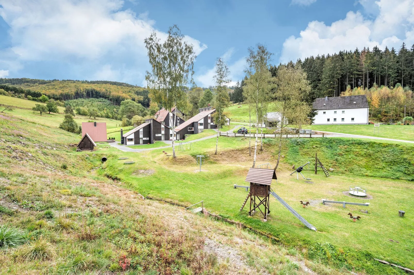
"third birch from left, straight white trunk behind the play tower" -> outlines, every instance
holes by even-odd
[[[249,48],[249,55],[246,58],[247,75],[246,85],[243,87],[243,93],[246,101],[253,105],[256,112],[256,140],[255,152],[253,155],[253,168],[256,165],[259,119],[263,117],[263,109],[269,100],[270,91],[274,87],[274,78],[269,71],[269,62],[272,54],[267,51],[265,45],[258,44],[256,48]]]

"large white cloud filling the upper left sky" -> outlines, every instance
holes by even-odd
[[[0,0],[0,16],[10,26],[12,46],[7,50],[22,66],[36,61],[67,62],[85,69],[88,78],[120,81],[124,71],[148,68],[144,39],[150,33],[166,38],[147,13],[123,10],[123,4],[121,0]],[[195,38],[185,39],[197,54],[207,48]],[[6,59],[5,55],[0,59]]]

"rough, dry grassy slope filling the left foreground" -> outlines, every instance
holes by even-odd
[[[75,152],[67,145],[77,140],[0,114],[0,273],[342,273],[241,228],[140,199],[96,174],[115,149]]]

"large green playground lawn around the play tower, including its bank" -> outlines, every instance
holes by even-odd
[[[345,261],[351,263],[352,266],[364,266],[362,262],[371,256],[363,256],[366,254],[355,252],[354,249],[357,249],[357,251],[368,251],[374,257],[384,258],[412,268],[414,266],[414,250],[412,249],[414,228],[411,224],[414,218],[410,215],[400,218],[398,210],[403,209],[406,213],[414,211],[413,183],[407,180],[378,177],[389,177],[395,173],[397,176],[406,175],[412,179],[412,169],[409,170],[410,168],[404,162],[408,164],[413,162],[413,157],[409,152],[412,152],[414,147],[331,138],[307,139],[303,142],[305,143],[292,141],[289,146],[284,146],[285,158],[282,159],[282,168],[277,173],[278,182],[274,181],[272,188],[299,214],[316,226],[317,232],[304,227],[275,199],[271,199],[271,214],[266,223],[260,220],[258,214],[255,214],[253,218],[248,218],[246,209],[239,212],[238,209],[247,193],[243,189],[233,189],[233,184],[247,184],[244,179],[248,167],[251,166],[251,159],[248,162],[241,160],[242,156],[246,157],[246,151],[227,151],[228,153],[223,155],[223,161],[217,161],[213,155],[215,139],[195,142],[192,150],[178,152],[177,163],[164,156],[161,150],[136,154],[111,148],[111,152],[128,156],[130,160],[135,161],[135,164],[125,167],[113,158],[105,163],[106,167],[101,173],[120,178],[130,188],[141,194],[188,205],[204,200],[205,207],[209,211],[242,220],[260,230],[272,232],[288,246],[306,247],[309,249],[308,254],[312,257],[319,257],[328,249],[332,257],[331,263],[338,261],[335,265],[339,265],[339,261],[343,262],[346,259]],[[219,152],[229,149],[240,150],[247,145],[248,139],[219,138]],[[269,151],[268,155],[259,158],[258,163],[269,161],[274,165],[274,147],[275,145],[272,144],[266,145],[265,150]],[[166,152],[171,153],[171,148],[166,149]],[[320,159],[327,168],[334,168],[329,178],[321,174],[321,171],[318,175],[314,175],[312,168],[305,173],[312,178],[313,184],[289,176],[290,170],[287,167],[291,166],[291,163],[303,164],[302,162],[311,160],[315,152],[319,152]],[[196,154],[206,156],[201,173],[197,173],[198,166],[193,157]],[[400,161],[398,161],[398,156],[400,156]],[[389,166],[388,170],[385,169],[386,166]],[[404,168],[405,166],[407,167]],[[143,180],[132,175],[136,169],[153,169],[155,173]],[[345,196],[342,192],[347,191],[349,185],[366,187],[373,199]],[[340,204],[322,205],[321,199],[370,202],[371,205],[366,214],[360,211],[366,209],[363,206],[347,205],[346,209],[342,209]],[[299,204],[300,200],[311,202],[311,206],[303,209]],[[349,212],[361,216],[361,220],[353,223],[347,216]],[[322,252],[315,251],[315,249],[320,249]],[[344,253],[343,256],[341,253]],[[363,259],[363,257],[367,258]],[[369,270],[369,268],[374,268],[373,266],[363,268],[368,270],[366,271],[368,273],[375,273]]]

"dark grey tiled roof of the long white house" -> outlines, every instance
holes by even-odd
[[[324,105],[325,104],[325,105]],[[368,108],[366,95],[349,95],[347,97],[320,97],[312,104],[316,110]]]

